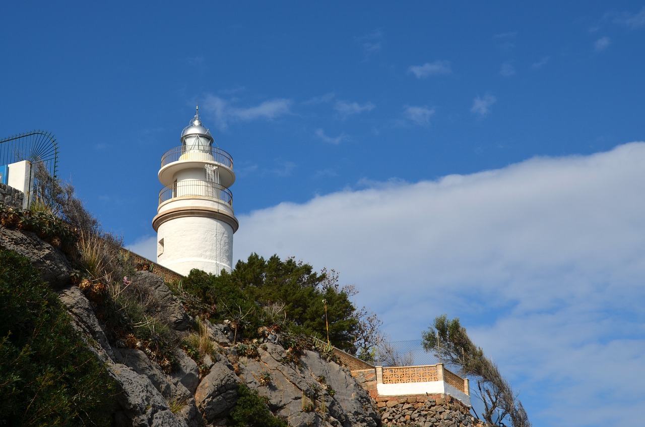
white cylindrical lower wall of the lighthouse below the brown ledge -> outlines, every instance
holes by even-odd
[[[233,264],[233,228],[209,217],[179,217],[166,221],[157,230],[163,239],[163,253],[157,263],[188,275],[193,268],[219,274],[230,272]]]

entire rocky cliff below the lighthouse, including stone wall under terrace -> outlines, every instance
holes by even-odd
[[[174,337],[172,355],[161,357],[132,333],[119,338],[106,326],[99,309],[105,290],[90,282],[70,284],[72,265],[58,248],[35,233],[4,226],[0,248],[28,257],[58,290],[75,328],[117,382],[114,426],[230,425],[240,384],[255,390],[289,426],[473,425],[468,410],[452,401],[377,402],[346,368],[311,347],[287,343],[286,337],[237,343],[229,325],[201,324],[161,277],[138,271],[119,292],[132,292],[144,303],[144,319],[154,319]],[[190,337],[210,350],[198,354],[182,345]]]

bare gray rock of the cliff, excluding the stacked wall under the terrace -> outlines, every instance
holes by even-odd
[[[301,357],[299,366],[284,362],[287,353],[271,342],[258,348],[257,359],[238,357],[232,346],[233,331],[225,324],[209,324],[208,333],[228,359],[219,354],[203,355],[198,367],[177,348],[173,372],[164,373],[143,351],[112,346],[116,344],[108,341],[109,335],[95,315],[94,303],[77,286],[67,285],[71,266],[57,249],[34,233],[4,227],[0,227],[0,247],[25,255],[41,271],[43,279],[62,288],[59,297],[75,327],[117,381],[119,408],[114,413],[114,426],[226,425],[224,417],[237,404],[241,381],[267,397],[270,410],[290,426],[379,425],[380,417],[368,393],[344,368],[309,351]],[[131,293],[128,297],[141,303],[148,315],[174,329],[178,342],[188,335],[192,319],[163,279],[150,272],[137,272],[131,281],[121,291],[124,295]],[[126,342],[120,341],[119,345]],[[210,372],[202,378],[200,368]]]

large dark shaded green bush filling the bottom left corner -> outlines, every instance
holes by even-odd
[[[109,426],[115,394],[55,293],[0,250],[0,425]]]

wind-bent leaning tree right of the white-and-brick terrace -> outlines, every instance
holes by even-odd
[[[502,377],[495,362],[471,341],[458,317],[450,320],[444,314],[435,318],[433,326],[422,333],[421,343],[427,352],[439,352],[442,359],[460,366],[462,374],[475,376],[479,397],[484,402],[482,416],[488,424],[499,427],[531,426],[522,402],[517,399],[508,381]]]

